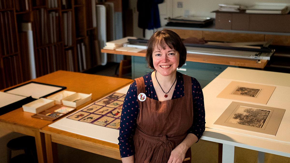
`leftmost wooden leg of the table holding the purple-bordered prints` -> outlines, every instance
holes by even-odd
[[[57,143],[51,142],[51,135],[45,135],[46,155],[48,163],[58,162]]]

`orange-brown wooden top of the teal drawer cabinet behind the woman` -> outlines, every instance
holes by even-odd
[[[138,56],[138,57],[146,56],[146,50],[142,50],[140,52],[123,52],[123,51],[117,51],[117,50],[101,49],[101,52],[106,52],[110,54],[131,55],[131,56]],[[260,60],[260,62],[257,62],[257,59],[244,59],[244,58],[236,58],[236,57],[222,57],[222,56],[201,55],[201,54],[187,54],[186,61],[209,63],[209,64],[222,64],[222,65],[229,65],[229,66],[252,67],[252,68],[261,68],[261,69],[263,69],[268,63],[268,60],[262,60],[262,59]]]

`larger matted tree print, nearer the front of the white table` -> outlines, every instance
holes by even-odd
[[[232,102],[216,125],[276,135],[285,109]]]

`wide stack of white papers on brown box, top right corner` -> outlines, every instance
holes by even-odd
[[[288,6],[268,6],[268,5],[255,5],[247,8],[246,13],[255,14],[288,14],[290,7]]]

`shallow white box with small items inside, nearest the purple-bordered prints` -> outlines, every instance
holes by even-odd
[[[70,106],[70,107],[76,108],[80,106],[81,104],[84,104],[90,101],[91,98],[92,98],[92,94],[76,93],[74,95],[66,97],[65,99],[61,101],[64,106]]]

